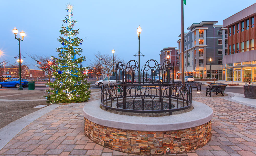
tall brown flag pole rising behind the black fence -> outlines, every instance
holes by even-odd
[[[184,68],[184,14],[183,3],[186,5],[186,0],[181,0],[181,82],[185,85],[185,68]]]

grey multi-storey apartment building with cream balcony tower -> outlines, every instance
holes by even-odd
[[[202,21],[188,27],[184,33],[185,76],[215,77],[223,80],[222,57],[227,52],[227,29],[218,21]],[[223,34],[223,35],[222,35]],[[181,37],[181,35],[179,35]],[[181,39],[178,41],[181,73]],[[210,61],[211,60],[211,61]]]

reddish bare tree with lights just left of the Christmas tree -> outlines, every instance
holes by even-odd
[[[50,78],[52,77],[52,72],[55,71],[53,68],[51,68],[51,66],[56,65],[56,62],[54,60],[51,60],[49,56],[39,56],[29,53],[27,53],[27,55],[35,61],[35,66],[47,73],[48,81],[50,81]]]

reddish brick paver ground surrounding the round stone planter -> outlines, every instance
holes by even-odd
[[[214,111],[211,141],[189,153],[173,155],[256,156],[256,108],[215,97],[193,91],[194,101]],[[64,104],[41,116],[20,131],[0,155],[128,155],[104,148],[84,135],[84,105]]]

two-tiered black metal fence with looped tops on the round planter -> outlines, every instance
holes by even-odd
[[[175,84],[173,75],[169,61],[158,64],[149,60],[141,70],[135,60],[127,64],[118,62],[116,84],[101,87],[101,105],[106,109],[136,113],[172,114],[187,109],[192,105],[191,85]]]

